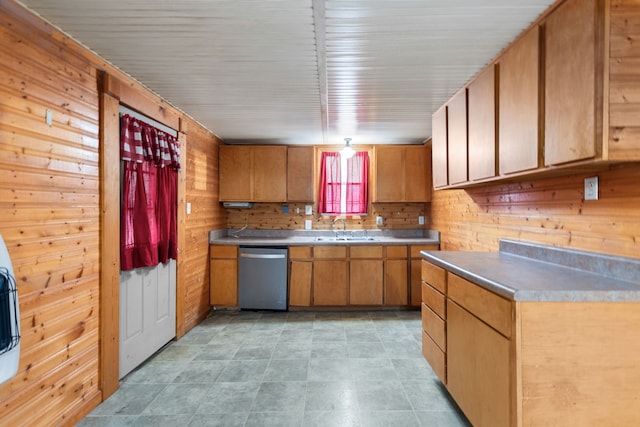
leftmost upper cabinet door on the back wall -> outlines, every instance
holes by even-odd
[[[219,150],[220,200],[251,200],[251,147],[221,145]]]

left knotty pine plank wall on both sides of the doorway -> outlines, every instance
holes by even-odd
[[[18,374],[0,385],[0,425],[73,425],[101,401],[98,70],[140,87],[21,6],[0,1],[0,233],[16,274],[22,333]],[[209,312],[208,231],[223,228],[226,214],[217,203],[218,141],[182,120],[179,209],[186,201],[192,209],[179,225],[178,324],[186,331]]]

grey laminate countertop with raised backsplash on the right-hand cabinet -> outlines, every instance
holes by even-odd
[[[640,302],[640,259],[501,240],[499,252],[422,258],[513,301]]]

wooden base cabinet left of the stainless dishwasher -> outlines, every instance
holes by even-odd
[[[238,305],[238,248],[210,246],[209,302],[215,306]]]

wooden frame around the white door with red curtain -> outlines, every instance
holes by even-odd
[[[136,83],[98,73],[100,168],[100,353],[99,387],[106,400],[119,387],[120,340],[120,104],[176,129],[182,168],[178,173],[178,259],[176,261],[176,338],[184,335],[183,253],[185,238],[186,126],[182,115]]]

